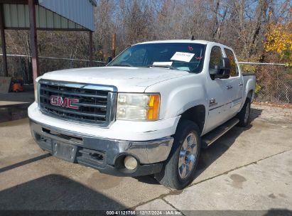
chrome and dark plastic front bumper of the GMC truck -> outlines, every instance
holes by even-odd
[[[173,145],[173,138],[151,141],[121,141],[88,136],[41,124],[30,119],[31,134],[37,144],[53,156],[90,166],[102,173],[139,176],[159,173]],[[134,171],[124,167],[124,157],[134,156]]]

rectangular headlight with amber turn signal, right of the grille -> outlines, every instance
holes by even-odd
[[[158,119],[160,95],[119,93],[117,119],[154,121]]]

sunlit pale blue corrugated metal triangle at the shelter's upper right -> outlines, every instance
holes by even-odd
[[[94,31],[94,6],[90,0],[38,0],[40,6]]]

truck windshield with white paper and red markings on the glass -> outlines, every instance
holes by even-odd
[[[200,43],[145,43],[124,50],[107,66],[153,67],[201,72],[205,45]]]

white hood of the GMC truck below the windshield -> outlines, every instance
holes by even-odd
[[[144,92],[147,87],[175,77],[189,75],[183,70],[168,68],[100,67],[75,68],[47,72],[43,79],[114,85],[118,92]]]

